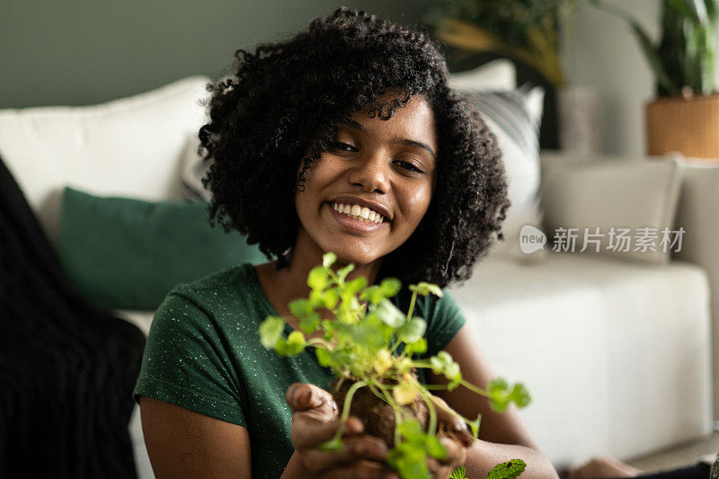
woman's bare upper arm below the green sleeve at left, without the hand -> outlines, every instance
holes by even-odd
[[[250,437],[243,426],[147,396],[140,399],[140,414],[157,479],[251,479]]]

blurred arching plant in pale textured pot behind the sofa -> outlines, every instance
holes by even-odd
[[[440,0],[439,5],[427,19],[439,40],[457,51],[512,58],[536,70],[556,93],[559,146],[578,155],[597,152],[599,94],[594,87],[567,84],[559,51],[560,38],[571,36],[577,0]],[[555,105],[545,106],[551,123]]]

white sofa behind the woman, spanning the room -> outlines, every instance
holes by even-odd
[[[66,184],[180,199],[179,157],[203,118],[200,103],[188,99],[206,81],[193,77],[93,107],[0,111],[0,157],[51,241]],[[571,158],[546,155],[543,162],[563,168]],[[677,224],[688,235],[670,264],[551,252],[543,262],[492,258],[453,288],[494,370],[527,384],[534,400],[524,417],[555,466],[597,454],[640,455],[706,434],[717,417],[710,330],[716,334],[719,310],[710,306],[719,304],[712,250],[719,166],[682,163]],[[145,332],[153,315],[118,313]],[[139,475],[152,477],[137,408],[130,430]]]

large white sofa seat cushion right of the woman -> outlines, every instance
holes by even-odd
[[[688,262],[546,254],[486,259],[452,296],[555,466],[627,458],[708,432],[708,281]]]

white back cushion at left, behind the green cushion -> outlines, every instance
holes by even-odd
[[[55,244],[64,186],[104,196],[180,198],[187,135],[205,123],[209,78],[92,106],[0,110],[0,158]]]

